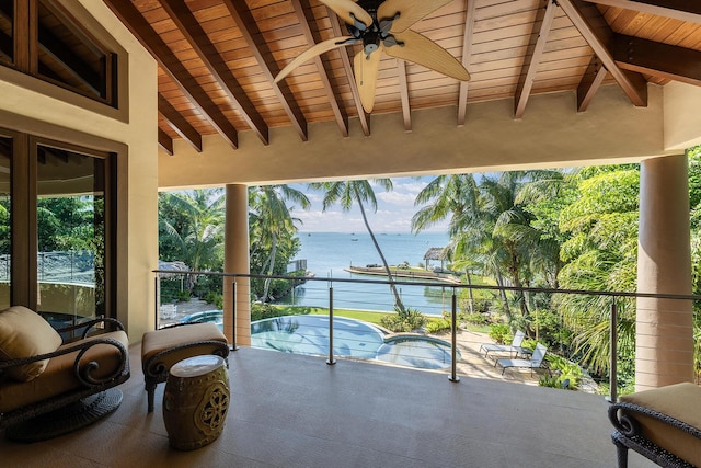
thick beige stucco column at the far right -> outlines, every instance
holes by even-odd
[[[691,294],[689,183],[685,155],[641,163],[637,292]],[[637,298],[635,390],[693,378],[690,300]]]

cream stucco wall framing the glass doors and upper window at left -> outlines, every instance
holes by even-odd
[[[99,41],[124,48],[119,80],[128,92],[120,88],[120,110],[0,67],[0,126],[58,140],[94,137],[81,144],[118,153],[118,313],[128,317],[129,339],[139,341],[153,323],[158,266],[158,69],[103,2],[62,2]]]

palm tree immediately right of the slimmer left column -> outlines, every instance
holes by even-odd
[[[311,202],[302,192],[288,185],[264,185],[251,187],[249,206],[253,210],[253,222],[250,230],[252,235],[251,246],[264,248],[269,251],[266,260],[261,265],[261,274],[273,275],[275,271],[275,256],[280,241],[291,240],[297,232],[295,222],[299,219],[292,218],[286,201],[298,204],[302,209],[309,209]],[[271,278],[265,278],[263,301],[268,299]]]

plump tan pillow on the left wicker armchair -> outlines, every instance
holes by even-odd
[[[22,306],[0,311],[0,361],[21,359],[53,353],[61,345],[61,336],[38,313]],[[19,381],[38,377],[48,359],[8,368],[8,375]]]

